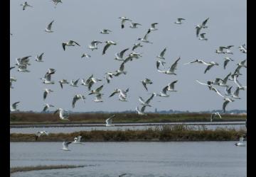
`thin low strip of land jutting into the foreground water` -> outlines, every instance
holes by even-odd
[[[35,170],[51,170],[51,169],[71,169],[84,166],[71,166],[71,165],[56,165],[56,166],[19,166],[10,169],[10,173],[35,171]]]

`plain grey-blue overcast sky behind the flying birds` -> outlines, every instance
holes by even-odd
[[[169,98],[156,97],[151,102],[152,111],[158,110],[213,110],[222,109],[223,98],[217,96],[213,91],[209,91],[206,86],[196,83],[196,79],[206,82],[216,77],[224,78],[229,72],[234,72],[236,64],[246,55],[238,50],[238,46],[246,44],[246,1],[68,1],[63,0],[63,4],[58,4],[54,8],[50,1],[28,1],[33,8],[26,8],[22,11],[23,1],[10,1],[11,4],[11,45],[10,62],[13,66],[16,57],[32,55],[29,73],[19,73],[11,70],[11,76],[15,76],[18,81],[14,83],[14,89],[10,91],[10,101],[14,103],[21,101],[18,105],[20,110],[43,109],[43,103],[51,103],[55,108],[64,108],[73,111],[122,111],[134,110],[139,105],[138,98],[146,99],[148,93],[159,92],[168,83],[178,79],[176,83],[176,93],[169,93]],[[127,16],[135,23],[141,23],[137,29],[129,28],[129,23],[121,29],[119,16]],[[196,38],[195,25],[202,23],[206,18],[208,28],[203,29],[208,41],[201,41]],[[176,25],[176,18],[185,18],[182,25]],[[54,33],[46,33],[43,30],[50,21],[53,23]],[[136,52],[142,52],[143,57],[125,64],[127,75],[114,77],[110,84],[103,79],[105,72],[114,72],[119,68],[121,62],[114,60],[114,53],[120,52],[124,48],[132,46],[137,38],[143,37],[151,23],[157,22],[159,30],[149,34],[149,40],[153,44],[143,43]],[[100,34],[102,28],[112,30],[110,35]],[[75,40],[81,47],[67,47],[65,51],[61,42]],[[99,45],[98,50],[91,51],[87,46],[92,40],[114,40],[116,46],[111,46],[106,55],[102,56],[104,45]],[[232,48],[234,55],[218,55],[215,49],[219,46],[235,45]],[[176,70],[177,75],[161,74],[156,70],[156,56],[161,50],[167,47],[166,67],[169,67],[179,56]],[[43,59],[45,62],[36,62],[36,55],[45,52]],[[90,59],[81,59],[83,52],[92,55]],[[127,52],[125,55],[129,54]],[[228,67],[223,69],[224,57],[231,57],[235,62],[229,62]],[[195,58],[204,59],[206,62],[215,61],[220,66],[215,66],[206,74],[203,74],[206,66],[203,64],[188,64]],[[102,93],[103,103],[94,103],[94,96],[87,96],[89,91],[84,86],[74,88],[64,85],[60,89],[58,82],[54,85],[42,84],[39,79],[46,74],[48,68],[57,70],[53,74],[53,81],[60,79],[87,78],[94,74],[97,78],[102,78],[92,89],[101,84],[105,84]],[[240,70],[242,76],[239,81],[242,85],[247,85],[247,70]],[[151,79],[154,84],[148,86],[146,92],[140,80],[145,77]],[[233,81],[228,81],[233,85]],[[80,85],[80,82],[79,82]],[[46,101],[43,101],[43,89],[52,89]],[[116,88],[127,89],[128,102],[118,101],[117,96],[108,98],[110,93]],[[218,87],[224,93],[224,87]],[[72,108],[71,102],[75,94],[82,93],[86,96],[85,104],[81,101]],[[242,99],[236,100],[227,105],[226,110],[246,109],[247,91],[240,91]],[[160,102],[159,102],[160,101]]]

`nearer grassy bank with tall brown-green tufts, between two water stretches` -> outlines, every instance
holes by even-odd
[[[92,130],[73,133],[50,133],[41,136],[38,142],[63,142],[73,141],[74,137],[82,136],[82,142],[144,142],[144,141],[235,141],[245,135],[246,130],[217,128],[195,130],[186,125],[164,125],[147,130]],[[35,142],[34,134],[10,135],[11,142]]]

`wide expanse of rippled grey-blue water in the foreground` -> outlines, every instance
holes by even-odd
[[[235,142],[11,142],[10,166],[85,165],[14,173],[43,176],[246,176],[247,148]]]

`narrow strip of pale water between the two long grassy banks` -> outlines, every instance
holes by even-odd
[[[187,122],[184,123],[185,125],[188,123],[193,123],[193,124],[203,124],[203,122]],[[245,130],[245,125],[244,122],[205,122],[207,125],[203,125],[205,128],[208,130],[215,130],[216,128],[226,128],[226,129],[235,129],[235,130]],[[215,125],[216,123],[218,124],[223,124],[223,125]],[[240,125],[225,125],[227,123],[240,123]],[[160,123],[159,123],[160,124]],[[161,123],[161,125],[166,125],[169,123]],[[173,125],[180,124],[180,123],[172,123]],[[212,125],[210,125],[212,124]],[[242,124],[242,125],[241,125]],[[142,126],[132,126],[129,124],[125,124],[127,126],[119,126],[118,124],[115,125],[114,127],[105,127],[104,125],[102,126],[95,126],[95,127],[86,127],[86,126],[78,126],[78,127],[17,127],[17,128],[11,128],[10,133],[36,133],[38,131],[47,131],[50,133],[70,133],[70,132],[79,132],[79,131],[91,131],[91,130],[146,130],[149,128],[156,128],[156,127],[161,127],[161,125],[150,125],[150,124],[144,124]],[[140,124],[137,124],[140,125]],[[193,127],[194,129],[202,129],[203,127],[201,125],[187,125],[188,127]]]

